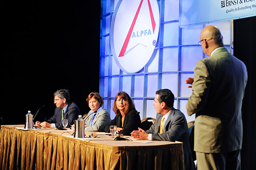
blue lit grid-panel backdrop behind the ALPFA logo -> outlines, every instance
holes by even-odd
[[[132,0],[130,0],[132,1]],[[152,0],[153,1],[153,0]],[[101,1],[101,54],[100,54],[100,94],[104,98],[104,108],[111,113],[114,97],[118,91],[126,91],[134,100],[141,118],[156,117],[153,106],[155,91],[168,88],[175,94],[174,107],[180,109],[187,122],[195,120],[187,116],[186,102],[192,92],[187,88],[185,79],[194,77],[194,67],[203,54],[200,40],[201,30],[207,25],[179,28],[179,1],[159,0],[160,33],[155,53],[149,63],[136,73],[127,74],[115,63],[110,46],[110,27],[116,0]],[[230,48],[231,22],[211,23],[220,28],[225,46]]]

